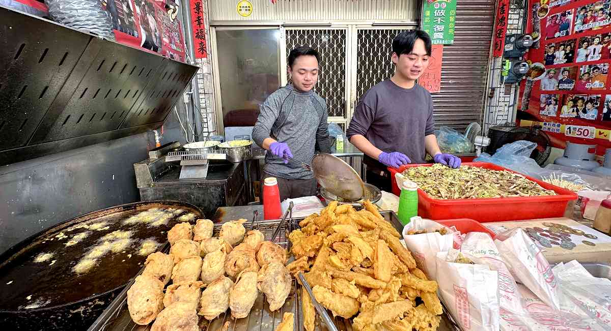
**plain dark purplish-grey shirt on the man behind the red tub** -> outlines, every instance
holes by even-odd
[[[346,136],[360,134],[382,151],[398,151],[412,163],[424,163],[424,137],[434,134],[434,126],[431,94],[418,84],[403,89],[388,79],[360,98]],[[364,161],[367,166],[386,169],[368,156]]]

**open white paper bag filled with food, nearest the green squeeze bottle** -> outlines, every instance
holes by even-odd
[[[445,228],[447,234],[434,232]],[[408,235],[409,231],[422,231],[420,235]],[[403,228],[403,239],[406,247],[412,252],[416,265],[424,271],[429,279],[437,280],[437,264],[435,262],[438,252],[447,252],[452,249],[454,231],[430,219],[412,217],[408,225]],[[437,280],[438,281],[438,280]]]

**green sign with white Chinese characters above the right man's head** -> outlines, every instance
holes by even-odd
[[[433,44],[452,45],[456,23],[456,0],[426,0],[422,10],[422,29]]]

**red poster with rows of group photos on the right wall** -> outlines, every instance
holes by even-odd
[[[611,0],[529,0],[535,43],[521,82],[517,122],[540,125],[552,145],[611,148]]]

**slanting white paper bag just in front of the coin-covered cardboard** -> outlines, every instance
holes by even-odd
[[[543,302],[560,309],[558,282],[541,249],[526,235],[522,228],[501,233],[494,241],[500,256],[514,278],[526,285]]]

